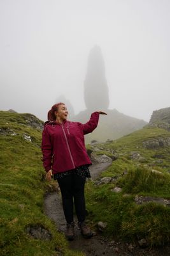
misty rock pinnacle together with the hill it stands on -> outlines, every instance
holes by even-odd
[[[85,142],[104,142],[115,140],[125,134],[141,129],[147,123],[143,120],[126,116],[117,109],[108,109],[109,93],[105,77],[104,60],[99,46],[92,48],[89,54],[87,75],[84,83],[84,99],[87,109],[72,118],[73,121],[85,123],[92,112],[106,111],[107,116],[100,116],[97,129],[85,136]]]

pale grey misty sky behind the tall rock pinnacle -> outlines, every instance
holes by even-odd
[[[0,109],[46,120],[60,95],[85,109],[97,44],[110,109],[149,121],[170,107],[169,13],[169,0],[0,0]]]

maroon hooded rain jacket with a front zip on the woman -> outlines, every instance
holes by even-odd
[[[92,113],[89,122],[69,122],[62,124],[47,122],[43,130],[41,149],[43,166],[48,172],[66,172],[83,164],[91,164],[85,148],[84,135],[96,129],[99,113]]]

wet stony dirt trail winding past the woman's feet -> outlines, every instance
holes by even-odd
[[[90,173],[92,179],[96,179],[99,173],[103,172],[111,162],[98,163],[90,166]],[[60,232],[64,232],[66,229],[66,220],[62,211],[62,200],[60,193],[49,193],[45,197],[44,204],[45,214],[56,223],[56,227]],[[76,216],[75,216],[75,223]],[[148,248],[139,248],[132,246],[131,244],[121,243],[120,241],[114,241],[101,236],[101,234],[94,234],[92,239],[84,239],[79,228],[75,227],[76,237],[74,241],[70,242],[70,248],[84,252],[87,256],[168,256],[170,255],[169,248],[160,248],[155,250],[149,250]]]

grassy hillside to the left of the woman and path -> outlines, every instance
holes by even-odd
[[[41,162],[43,123],[30,114],[6,111],[0,111],[0,118],[1,255],[82,255],[67,250],[65,237],[43,214],[48,189]]]

